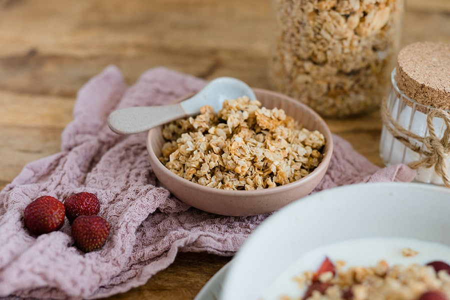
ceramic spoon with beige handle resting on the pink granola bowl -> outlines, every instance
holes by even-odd
[[[218,77],[198,93],[179,103],[114,110],[108,116],[108,126],[120,134],[138,133],[181,117],[198,114],[200,107],[206,104],[217,112],[222,109],[225,99],[236,99],[241,96],[256,98],[251,88],[241,80]]]

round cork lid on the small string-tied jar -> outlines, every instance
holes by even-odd
[[[398,88],[420,104],[450,109],[450,44],[415,42],[397,56]]]

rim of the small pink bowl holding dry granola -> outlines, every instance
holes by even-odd
[[[304,176],[298,180],[295,180],[295,181],[292,181],[292,182],[289,182],[289,183],[286,183],[283,185],[278,185],[278,186],[270,187],[270,188],[253,189],[253,190],[220,189],[220,188],[214,188],[214,187],[205,186],[205,185],[201,185],[199,183],[192,182],[192,181],[182,178],[182,177],[176,175],[175,173],[173,173],[172,171],[170,171],[159,160],[159,158],[156,156],[155,152],[152,150],[151,136],[153,134],[156,134],[156,131],[160,130],[162,125],[148,130],[147,138],[146,138],[146,146],[147,146],[147,152],[150,156],[150,160],[154,163],[159,163],[158,165],[162,168],[161,171],[164,171],[171,179],[184,180],[182,182],[187,184],[187,186],[189,186],[190,188],[198,189],[202,192],[214,192],[215,194],[229,195],[229,196],[232,196],[232,195],[244,196],[244,195],[248,195],[250,193],[257,195],[257,194],[267,193],[268,191],[270,191],[270,192],[277,191],[278,192],[278,191],[283,191],[283,190],[289,190],[289,189],[298,187],[297,185],[301,185],[301,183],[303,183],[303,181],[309,181],[310,178],[319,176],[321,174],[321,171],[323,171],[325,173],[326,169],[328,168],[329,161],[331,160],[331,156],[332,156],[332,152],[333,152],[332,133],[331,133],[331,130],[329,129],[327,123],[325,122],[325,120],[316,111],[314,111],[312,108],[310,108],[306,104],[300,102],[299,100],[295,100],[294,98],[289,97],[285,94],[282,94],[282,93],[279,93],[279,92],[276,92],[273,90],[263,89],[263,88],[253,88],[252,87],[252,89],[256,93],[256,97],[257,97],[258,93],[266,93],[269,95],[280,97],[287,102],[293,102],[294,104],[299,105],[302,110],[306,110],[308,112],[308,114],[313,115],[318,120],[319,123],[322,123],[324,130],[321,130],[320,133],[322,133],[323,136],[326,138],[325,145],[324,145],[323,152],[322,152],[322,154],[323,154],[322,160],[319,162],[317,167],[315,167],[309,174],[307,174],[306,176]],[[181,101],[183,99],[184,99],[184,97],[179,98],[176,101]],[[324,169],[324,170],[322,170],[322,169]],[[154,172],[154,170],[153,170],[153,172]],[[174,182],[176,182],[176,181],[174,181]]]

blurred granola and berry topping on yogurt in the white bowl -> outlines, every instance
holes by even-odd
[[[369,267],[344,269],[344,261],[336,261],[335,271],[321,273],[314,290],[304,300],[419,300],[449,299],[450,274],[447,269],[436,270],[432,265],[389,265],[380,260]],[[313,272],[296,278],[300,286],[311,284]],[[428,297],[424,295],[427,294]],[[433,294],[433,295],[430,295]],[[282,300],[293,300],[283,296]]]

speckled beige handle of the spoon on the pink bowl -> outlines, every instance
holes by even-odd
[[[131,134],[186,116],[179,103],[160,106],[135,106],[117,109],[108,116],[108,126],[119,134]]]

